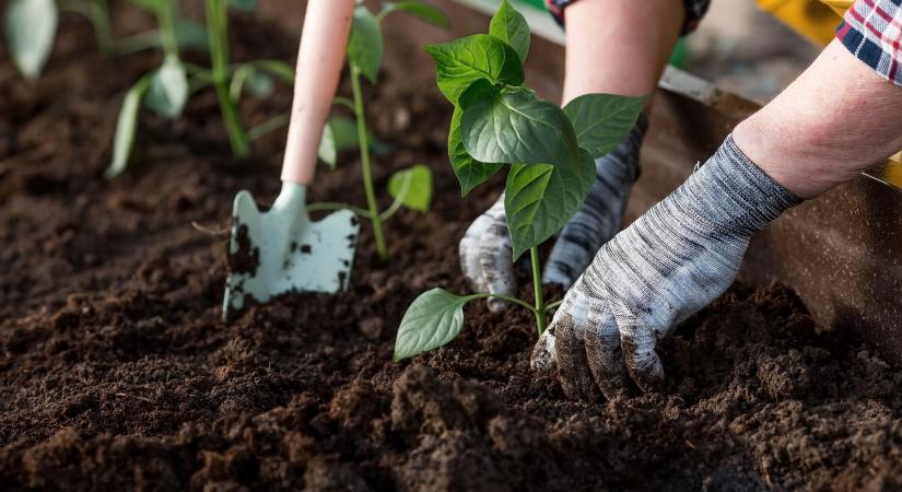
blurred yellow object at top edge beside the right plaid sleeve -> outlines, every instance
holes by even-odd
[[[845,0],[822,1],[846,4],[846,8],[852,4],[852,1]],[[833,39],[833,33],[840,24],[834,13],[837,8],[824,3],[817,0],[758,0],[761,10],[770,12],[808,40],[821,46],[827,46]]]

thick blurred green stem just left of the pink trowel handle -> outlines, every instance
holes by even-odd
[[[207,34],[210,38],[210,59],[213,63],[213,86],[222,112],[232,153],[244,157],[250,153],[250,143],[238,118],[235,102],[229,94],[229,16],[225,0],[207,0]]]

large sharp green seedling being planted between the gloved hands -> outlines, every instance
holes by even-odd
[[[505,0],[489,34],[425,47],[438,89],[454,105],[448,157],[461,195],[509,166],[504,208],[514,260],[527,250],[532,304],[507,295],[453,294],[433,289],[408,308],[395,341],[395,361],[450,342],[464,326],[464,306],[497,297],[532,312],[539,335],[560,302],[542,298],[538,246],[579,210],[595,183],[595,160],[614,150],[635,125],[646,97],[588,94],[563,109],[525,84],[529,26]]]

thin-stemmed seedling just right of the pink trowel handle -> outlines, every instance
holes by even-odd
[[[378,80],[385,52],[385,39],[382,22],[389,14],[403,12],[432,24],[436,27],[448,28],[447,16],[441,10],[419,1],[383,2],[382,10],[374,14],[365,4],[358,4],[354,9],[354,19],[351,25],[351,35],[348,39],[348,67],[351,77],[352,98],[337,97],[336,104],[347,106],[356,121],[356,143],[360,149],[361,174],[366,196],[366,209],[350,207],[344,203],[317,203],[312,210],[330,210],[344,208],[353,210],[373,225],[373,236],[379,258],[388,258],[383,223],[400,207],[412,210],[429,211],[432,197],[432,171],[429,166],[417,164],[401,169],[389,178],[388,192],[395,201],[385,211],[379,211],[376,192],[373,184],[372,162],[370,159],[371,132],[366,127],[366,112],[364,109],[361,77],[375,84]],[[326,126],[319,155],[331,166],[335,166],[335,149],[338,139],[337,127],[331,122]]]

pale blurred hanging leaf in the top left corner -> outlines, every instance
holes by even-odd
[[[3,27],[15,67],[28,81],[37,80],[54,48],[58,20],[54,0],[12,0]]]

